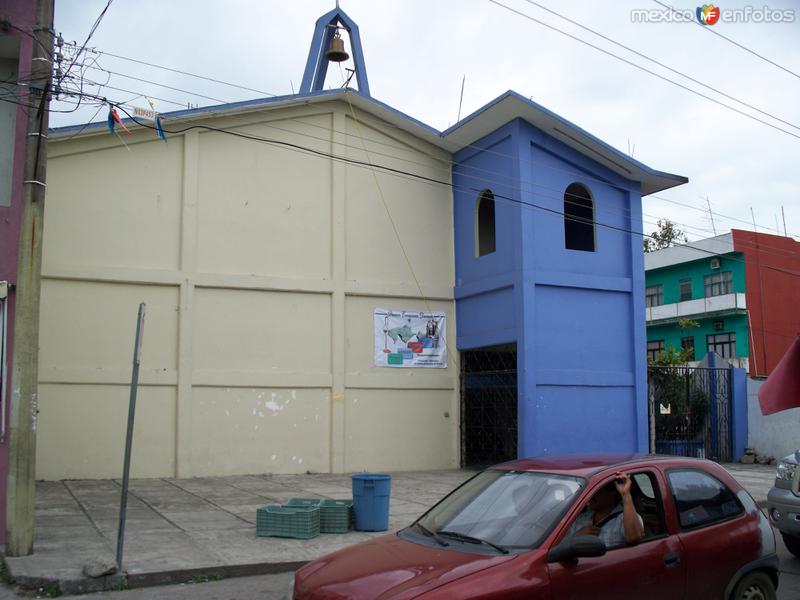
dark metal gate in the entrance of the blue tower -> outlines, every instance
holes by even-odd
[[[517,347],[461,353],[461,465],[517,458]]]

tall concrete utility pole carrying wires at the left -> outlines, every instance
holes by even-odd
[[[11,422],[8,436],[6,555],[33,552],[36,421],[39,380],[39,294],[52,77],[53,0],[36,0],[27,104],[25,169],[17,264]]]

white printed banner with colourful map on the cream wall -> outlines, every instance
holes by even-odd
[[[447,368],[445,314],[376,308],[375,366]]]

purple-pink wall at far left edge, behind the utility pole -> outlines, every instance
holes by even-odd
[[[7,19],[15,27],[33,33],[35,6],[33,0],[0,0],[0,17]],[[0,31],[2,35],[19,38],[19,73],[30,70],[33,40],[16,29]],[[24,100],[24,98],[23,98]],[[17,126],[14,147],[14,171],[11,184],[11,206],[0,206],[0,281],[14,283],[17,280],[17,254],[20,226],[20,200],[22,197],[22,176],[25,165],[25,133],[27,119],[20,108],[17,110]],[[11,360],[14,349],[14,292],[9,292],[8,314],[8,373],[11,374]],[[8,386],[10,387],[10,386]],[[10,390],[8,390],[10,396]],[[6,398],[8,411],[9,398]],[[8,412],[6,413],[8,415]],[[6,537],[6,475],[8,473],[8,436],[0,444],[0,543]]]

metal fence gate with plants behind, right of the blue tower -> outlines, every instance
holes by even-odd
[[[733,457],[731,369],[648,367],[650,451]]]

